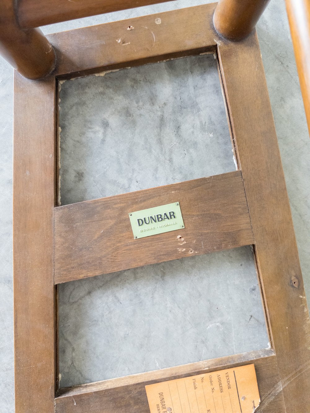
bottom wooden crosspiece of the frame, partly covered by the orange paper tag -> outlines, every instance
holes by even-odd
[[[55,411],[56,413],[82,413],[86,411],[92,413],[106,411],[149,413],[145,385],[250,363],[255,364],[261,398],[260,407],[255,411],[283,413],[285,407],[279,385],[277,359],[270,350],[252,351],[61,389],[60,395],[55,399]]]

